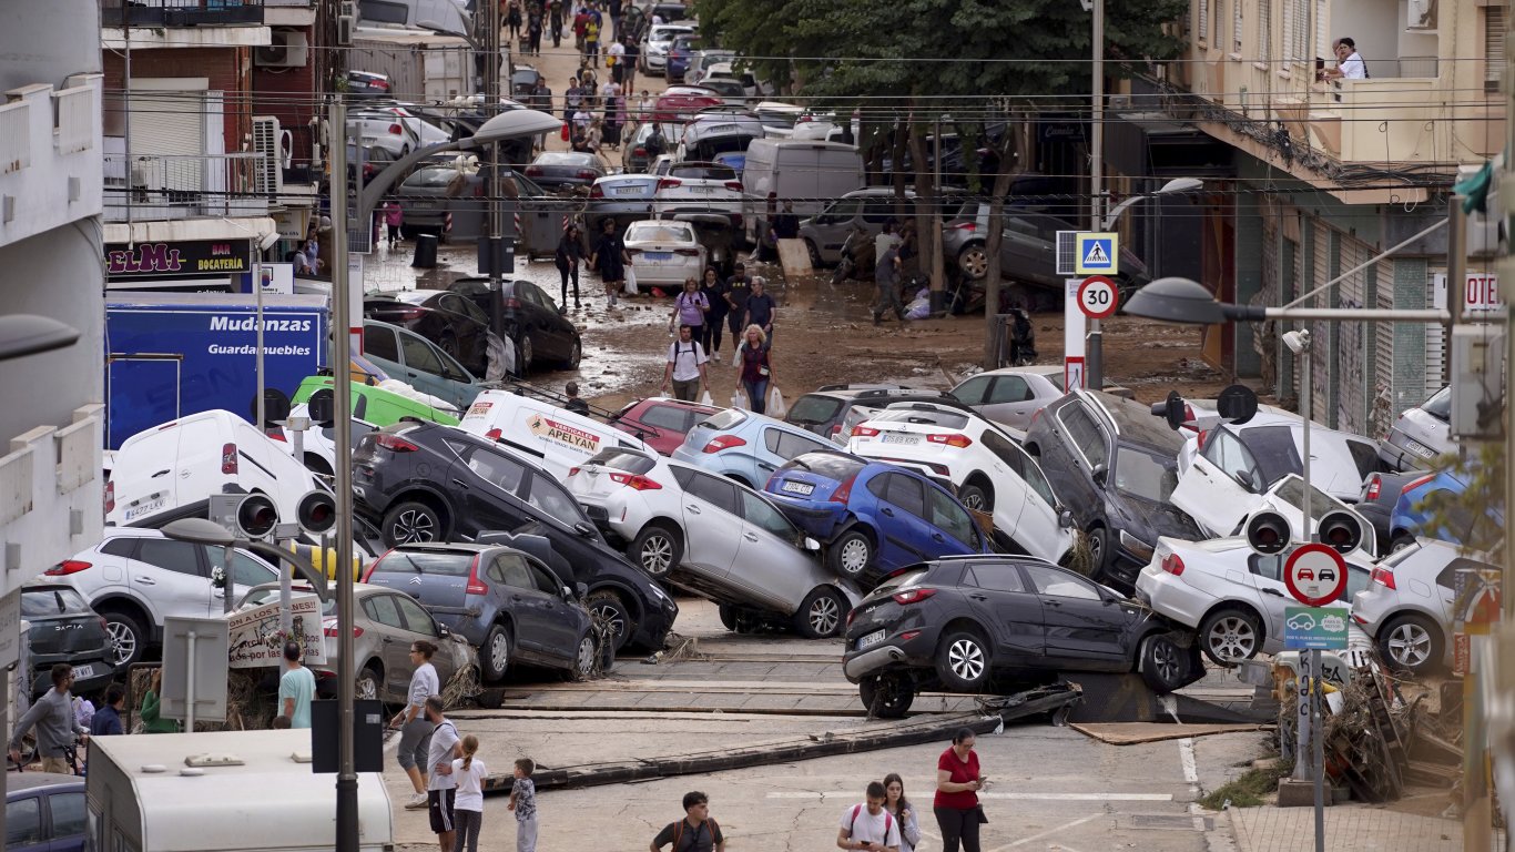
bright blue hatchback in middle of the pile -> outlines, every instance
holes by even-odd
[[[804,453],[768,479],[768,496],[826,544],[833,572],[864,584],[939,556],[989,553],[950,491],[920,473],[836,450]]]

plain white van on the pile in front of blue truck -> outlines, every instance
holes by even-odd
[[[162,526],[205,517],[206,500],[226,485],[261,491],[295,520],[300,497],[320,488],[315,476],[273,438],[230,411],[201,411],[127,438],[106,484],[105,522]]]

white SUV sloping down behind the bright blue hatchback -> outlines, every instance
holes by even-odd
[[[847,452],[954,488],[962,505],[992,514],[994,526],[1032,556],[1062,562],[1074,546],[1073,515],[1036,459],[971,411],[900,402],[856,426]]]

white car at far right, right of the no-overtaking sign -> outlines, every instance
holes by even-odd
[[[1351,620],[1373,637],[1389,666],[1423,673],[1447,661],[1459,569],[1500,570],[1435,538],[1420,538],[1373,569],[1368,588],[1353,599]]]

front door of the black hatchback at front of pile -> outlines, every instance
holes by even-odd
[[[1041,596],[1047,666],[1114,672],[1130,664],[1127,605],[1104,597],[1097,585],[1071,572],[1033,562],[1023,564],[1021,570]]]

